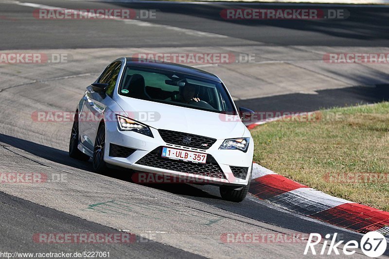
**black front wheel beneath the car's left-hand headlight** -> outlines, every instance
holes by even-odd
[[[97,130],[96,140],[94,141],[92,165],[97,173],[106,173],[107,166],[104,161],[104,151],[106,146],[106,126],[102,122]]]

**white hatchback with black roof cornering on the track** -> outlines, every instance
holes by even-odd
[[[248,192],[254,143],[223,82],[173,63],[119,58],[77,106],[69,155],[92,158],[96,172],[131,172],[196,179],[220,186],[222,198]]]

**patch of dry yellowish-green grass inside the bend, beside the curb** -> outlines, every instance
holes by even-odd
[[[336,120],[331,120],[337,114]],[[389,182],[328,181],[329,173],[389,173],[389,103],[322,110],[311,121],[252,130],[254,161],[309,187],[389,211]],[[389,177],[385,178],[389,179]]]

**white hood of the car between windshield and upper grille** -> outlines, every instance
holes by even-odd
[[[225,115],[171,104],[118,96],[116,103],[130,119],[156,129],[186,132],[216,139],[241,138],[246,126],[238,116]],[[230,118],[231,119],[231,118]]]

